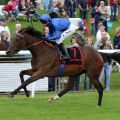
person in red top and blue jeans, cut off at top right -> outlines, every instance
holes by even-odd
[[[117,4],[118,0],[109,0],[110,7],[111,7],[111,21],[116,20],[116,14],[117,14]]]

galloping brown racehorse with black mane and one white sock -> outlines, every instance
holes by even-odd
[[[61,60],[58,51],[51,43],[41,40],[40,32],[29,27],[20,30],[18,34],[14,36],[12,43],[7,50],[7,55],[13,56],[25,48],[28,49],[32,54],[32,68],[20,72],[22,84],[9,94],[9,97],[11,98],[14,97],[14,95],[17,94],[22,88],[24,89],[26,96],[29,97],[30,93],[27,91],[26,86],[38,79],[44,77],[59,77],[58,71],[61,66]],[[92,84],[98,91],[98,106],[101,106],[103,87],[98,78],[104,64],[103,57],[98,51],[88,46],[81,47],[81,52],[84,58],[83,66],[65,66],[64,72],[61,76],[68,76],[68,83],[64,90],[49,99],[50,102],[59,99],[61,96],[67,93],[73,87],[74,81],[78,75],[87,73]],[[104,56],[105,53],[102,55]],[[111,59],[111,56],[108,57]],[[120,55],[117,61],[120,63]],[[24,81],[24,75],[30,75],[31,77]]]

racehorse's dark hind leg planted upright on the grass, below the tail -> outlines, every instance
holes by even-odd
[[[91,79],[90,80],[92,81],[94,87],[97,89],[98,91],[98,94],[99,94],[99,98],[98,98],[98,106],[101,106],[101,103],[102,103],[102,96],[103,96],[103,87],[101,85],[101,83],[99,82],[98,78],[96,79]]]

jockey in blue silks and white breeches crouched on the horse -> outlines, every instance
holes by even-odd
[[[42,37],[43,40],[54,41],[58,44],[60,51],[62,52],[62,59],[69,59],[69,55],[66,52],[63,40],[75,32],[75,27],[70,24],[69,19],[66,18],[53,18],[48,14],[43,14],[40,17],[41,23],[46,27],[49,27],[48,36]]]

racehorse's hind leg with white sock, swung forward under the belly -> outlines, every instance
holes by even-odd
[[[74,85],[74,81],[77,77],[76,76],[70,76],[67,82],[67,85],[65,87],[64,90],[62,90],[60,93],[58,93],[57,95],[55,95],[54,97],[50,98],[48,100],[48,102],[54,102],[56,100],[58,100],[60,97],[62,97],[65,93],[67,93],[70,89],[72,89],[73,85]]]

